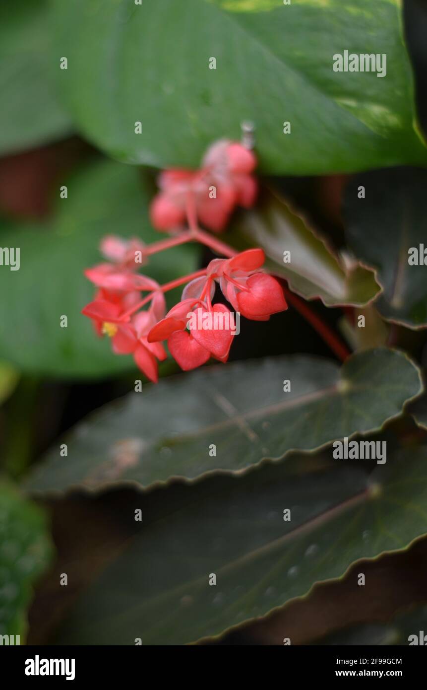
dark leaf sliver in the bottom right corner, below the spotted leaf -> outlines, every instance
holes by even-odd
[[[421,634],[420,642],[420,631]],[[381,647],[424,645],[424,634],[427,631],[427,607],[417,607],[393,616],[388,623],[369,623],[352,625],[321,638],[314,644],[364,645],[375,644]],[[412,637],[411,637],[412,635]],[[415,636],[415,638],[414,638]],[[417,642],[415,642],[417,640]]]

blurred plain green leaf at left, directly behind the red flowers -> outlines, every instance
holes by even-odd
[[[99,241],[108,234],[137,236],[149,244],[159,233],[148,221],[148,189],[139,171],[99,161],[70,179],[68,198],[57,202],[51,227],[12,228],[2,246],[20,247],[19,270],[0,271],[0,357],[23,371],[61,377],[99,377],[132,370],[131,356],[113,355],[81,309],[95,288],[83,270],[103,261]],[[144,273],[168,282],[196,268],[197,248],[155,255]],[[176,296],[176,295],[175,295]],[[68,327],[61,328],[62,315]],[[19,347],[17,347],[19,342]]]

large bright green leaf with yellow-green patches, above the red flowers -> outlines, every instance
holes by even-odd
[[[65,101],[88,139],[113,157],[198,166],[208,144],[239,137],[241,122],[251,120],[266,172],[427,161],[397,0],[54,0],[54,7],[57,50],[69,60],[59,75]],[[386,53],[386,76],[335,72],[333,56],[344,50]]]

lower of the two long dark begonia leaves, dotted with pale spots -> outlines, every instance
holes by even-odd
[[[398,451],[370,475],[369,466],[334,461],[328,449],[238,480],[133,493],[128,519],[141,509],[137,535],[55,641],[195,642],[306,595],[359,559],[406,549],[427,531],[427,449]]]

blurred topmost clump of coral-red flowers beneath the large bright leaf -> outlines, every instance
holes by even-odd
[[[219,141],[206,152],[201,170],[162,172],[161,191],[150,208],[153,226],[157,230],[179,228],[191,204],[201,224],[214,232],[224,230],[235,206],[250,208],[255,203],[257,181],[251,173],[256,164],[255,155],[241,144]]]

